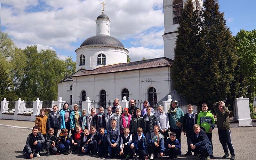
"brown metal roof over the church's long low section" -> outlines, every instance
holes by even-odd
[[[99,67],[93,70],[80,69],[76,73],[69,76],[70,78],[76,76],[87,76],[87,75],[97,75],[97,74],[107,74],[115,72],[132,71],[138,69],[149,69],[158,67],[172,66],[173,60],[166,57],[154,58],[149,60],[140,60],[129,63],[118,63],[108,66]],[[63,79],[64,80],[64,79]],[[63,82],[63,81],[61,81]]]

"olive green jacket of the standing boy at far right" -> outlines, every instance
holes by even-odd
[[[219,106],[219,102],[216,102],[213,104],[213,109],[216,112],[216,116],[217,116],[218,129],[228,130],[230,128],[228,107],[224,106],[224,111],[220,112],[218,106]]]

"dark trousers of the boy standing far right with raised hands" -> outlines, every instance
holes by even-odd
[[[218,133],[219,133],[219,140],[220,143],[222,145],[222,148],[224,150],[225,153],[228,153],[228,149],[230,151],[230,153],[235,153],[232,141],[231,141],[231,131],[230,129],[228,130],[220,130],[218,129]]]

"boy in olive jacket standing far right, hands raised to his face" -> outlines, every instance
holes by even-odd
[[[217,116],[217,126],[219,133],[219,140],[222,145],[222,148],[225,152],[223,159],[230,158],[228,154],[228,149],[231,153],[231,160],[235,160],[235,150],[231,142],[231,132],[230,132],[230,123],[229,123],[229,110],[225,106],[223,101],[219,101],[213,104],[213,108]]]

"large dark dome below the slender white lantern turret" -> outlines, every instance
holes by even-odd
[[[80,47],[82,46],[108,46],[124,48],[124,45],[118,39],[108,35],[89,37],[80,45]]]

